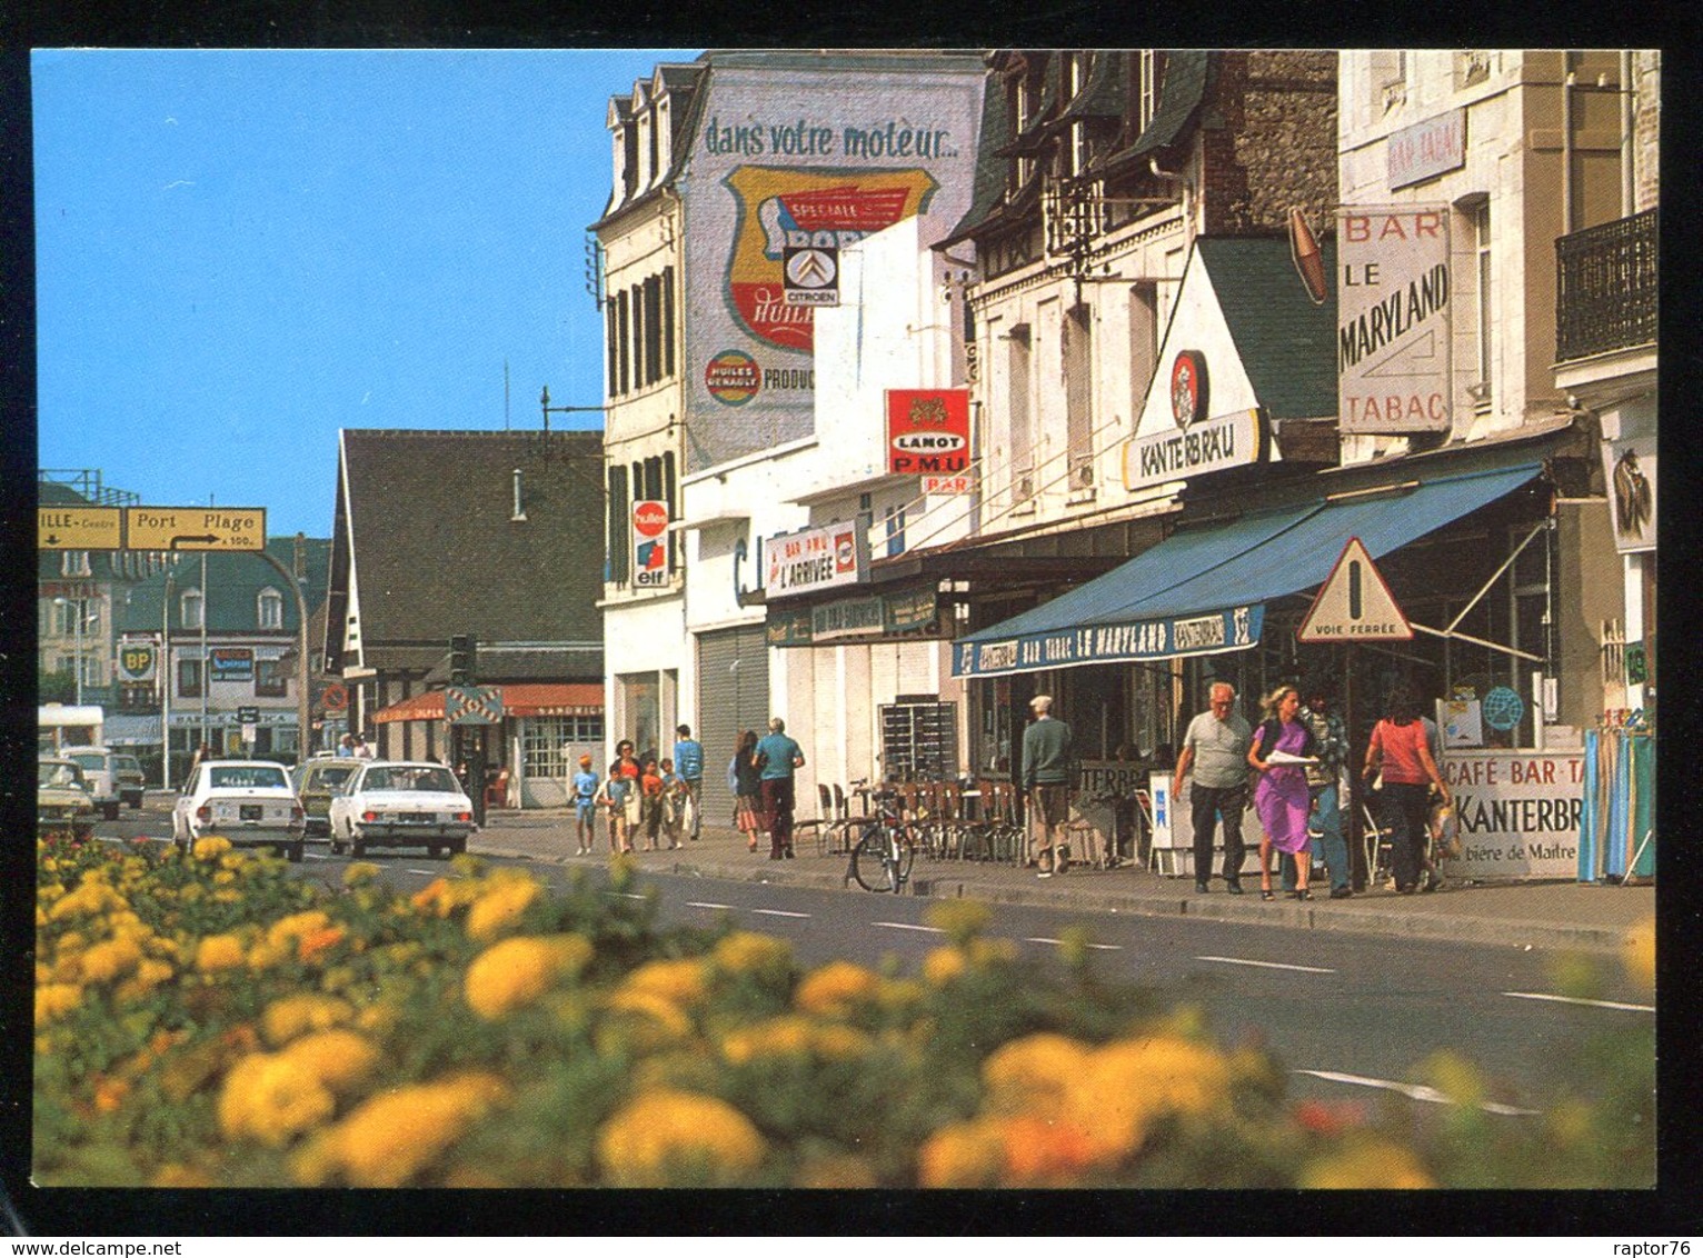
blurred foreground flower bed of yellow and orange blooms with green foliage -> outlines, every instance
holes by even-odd
[[[1269,1054],[1102,982],[1085,936],[1041,981],[960,901],[918,974],[806,970],[465,856],[416,895],[216,838],[37,865],[41,1185],[1654,1183],[1649,1035],[1536,1118],[1487,1113],[1451,1055],[1420,1071],[1446,1106],[1296,1103]]]

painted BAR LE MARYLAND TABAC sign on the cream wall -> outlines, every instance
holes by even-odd
[[[1337,380],[1344,432],[1446,432],[1449,208],[1337,209]]]

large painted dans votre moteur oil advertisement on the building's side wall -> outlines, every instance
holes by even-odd
[[[685,175],[688,405],[707,420],[688,455],[695,468],[812,431],[819,303],[788,300],[788,252],[795,266],[838,259],[913,216],[926,220],[928,243],[969,208],[979,60],[852,75],[823,61],[722,66],[708,80]]]

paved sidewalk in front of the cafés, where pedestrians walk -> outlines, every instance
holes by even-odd
[[[516,856],[559,865],[608,860],[608,836],[598,827],[598,853],[574,855],[574,817],[567,809],[494,810],[468,851]],[[807,832],[795,844],[797,858],[771,861],[766,841],[756,853],[729,827],[703,827],[697,843],[679,851],[635,851],[644,870],[739,882],[840,890],[848,885],[846,856],[821,855]],[[1308,902],[1259,897],[1259,877],[1248,878],[1247,895],[1228,895],[1213,880],[1207,895],[1194,892],[1194,878],[1161,878],[1144,868],[1092,870],[1073,865],[1059,878],[1037,878],[1034,870],[989,861],[932,861],[918,856],[911,892],[937,899],[978,899],[989,904],[1037,904],[1093,912],[1131,912],[1148,918],[1211,918],[1301,929],[1357,931],[1407,938],[1492,943],[1514,948],[1574,948],[1614,952],[1626,931],[1654,916],[1650,885],[1591,885],[1577,882],[1459,883],[1419,895],[1378,889],[1345,901]],[[867,892],[850,883],[858,895]]]

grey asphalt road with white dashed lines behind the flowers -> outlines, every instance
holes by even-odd
[[[150,803],[102,822],[97,834],[169,838],[170,821]],[[368,860],[405,889],[450,872],[446,861],[414,851]],[[337,883],[346,863],[324,843],[310,843],[298,872]],[[598,878],[601,868],[577,866]],[[565,885],[577,870],[533,866],[552,885]],[[727,918],[790,940],[812,965],[833,958],[875,965],[891,955],[913,969],[943,943],[923,921],[932,901],[920,897],[664,873],[644,875],[644,885],[661,892],[668,921]],[[1490,1081],[1488,1108],[1519,1122],[1568,1091],[1601,1086],[1574,1062],[1577,1045],[1654,1018],[1649,996],[1613,964],[1596,962],[1599,987],[1580,1001],[1558,984],[1570,958],[1516,946],[1020,904],[995,906],[989,933],[1017,941],[1044,972],[1059,964],[1059,940],[1071,926],[1087,928],[1092,965],[1104,979],[1148,987],[1165,1006],[1197,1004],[1224,1042],[1255,1038],[1276,1052],[1296,1096],[1376,1101],[1405,1091],[1429,1100],[1417,1067],[1451,1049]]]

